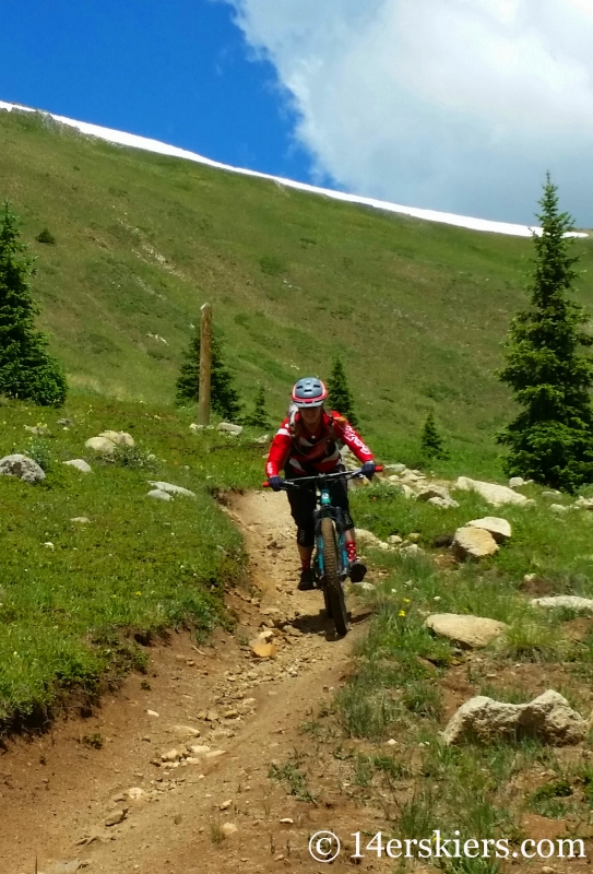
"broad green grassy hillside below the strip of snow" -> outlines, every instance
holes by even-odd
[[[436,405],[460,450],[493,453],[510,412],[493,370],[530,240],[112,146],[43,116],[0,113],[0,198],[38,256],[43,327],[76,389],[171,403],[210,299],[248,403],[263,382],[280,415],[294,377],[327,375],[341,350],[369,438],[405,447]],[[56,246],[35,241],[45,226]],[[577,247],[590,267],[593,244]],[[579,297],[593,303],[590,274]]]

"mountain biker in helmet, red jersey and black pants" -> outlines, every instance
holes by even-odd
[[[339,444],[345,444],[354,452],[361,462],[365,476],[372,479],[375,461],[370,449],[365,446],[344,416],[335,411],[325,411],[327,398],[328,389],[320,379],[306,377],[294,385],[288,415],[272,441],[265,464],[268,482],[274,492],[280,492],[282,488],[284,482],[280,474],[282,469],[289,479],[345,470]],[[353,582],[361,582],[367,568],[356,555],[354,522],[349,513],[346,482],[335,479],[329,488],[332,504],[341,507],[344,513],[348,576]],[[316,588],[315,571],[311,568],[315,545],[313,513],[317,506],[315,483],[306,483],[301,488],[290,489],[287,494],[290,512],[297,525],[300,556],[298,588],[301,592],[306,592]]]

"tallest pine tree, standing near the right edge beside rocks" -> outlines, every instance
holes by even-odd
[[[542,236],[534,236],[531,302],[511,322],[506,367],[522,408],[498,435],[509,447],[506,470],[538,483],[573,492],[593,481],[593,363],[583,350],[593,344],[588,316],[569,299],[578,256],[567,233],[572,218],[558,211],[549,174],[539,204]]]

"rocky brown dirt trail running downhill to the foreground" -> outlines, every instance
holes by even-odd
[[[245,531],[253,583],[230,595],[235,633],[220,630],[199,649],[189,635],[174,635],[151,651],[147,676],[129,676],[96,713],[0,752],[1,874],[34,874],[36,855],[45,874],[317,872],[324,866],[308,853],[310,835],[365,827],[335,786],[313,805],[268,776],[271,761],[286,763],[297,744],[315,756],[299,725],[347,674],[364,614],[335,639],[320,616],[321,594],[296,590],[284,495],[248,494],[227,511]],[[273,660],[256,659],[247,646],[262,623],[275,628]],[[102,748],[88,745],[97,736]],[[186,744],[223,752],[198,753],[195,764],[152,764]],[[225,824],[233,834],[221,840]],[[352,870],[346,854],[332,870]]]

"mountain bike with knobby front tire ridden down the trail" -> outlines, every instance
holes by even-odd
[[[378,472],[382,466],[377,466]],[[318,473],[315,476],[299,476],[296,480],[284,480],[283,491],[303,488],[305,483],[316,485],[315,511],[316,554],[313,569],[316,584],[323,592],[325,615],[333,619],[335,630],[342,637],[348,633],[348,614],[344,598],[344,581],[348,576],[348,556],[346,553],[346,529],[344,516],[340,507],[334,507],[330,496],[332,480],[354,480],[361,477],[361,469],[339,471],[336,473]],[[263,483],[268,487],[268,482]]]

